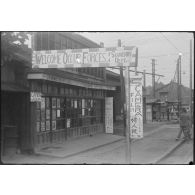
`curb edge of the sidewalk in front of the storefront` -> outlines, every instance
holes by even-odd
[[[55,158],[61,158],[61,159],[63,158],[64,159],[64,158],[69,158],[69,157],[72,157],[72,156],[76,156],[78,154],[82,154],[82,153],[88,152],[90,150],[94,150],[94,149],[97,149],[97,148],[101,148],[101,147],[104,147],[106,145],[113,144],[113,143],[116,143],[116,142],[119,142],[119,141],[122,141],[122,140],[124,140],[124,138],[120,138],[118,140],[114,140],[112,142],[104,143],[104,144],[101,144],[101,145],[96,145],[96,146],[93,146],[93,147],[84,149],[82,151],[73,152],[73,153],[67,154],[67,155],[46,154],[44,152],[36,152],[35,155],[49,156],[49,157],[55,157]]]

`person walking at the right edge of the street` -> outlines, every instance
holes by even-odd
[[[181,137],[181,134],[183,132],[184,134],[184,140],[190,140],[191,135],[190,135],[190,115],[187,113],[185,108],[182,108],[181,114],[180,114],[180,119],[179,119],[179,124],[180,124],[180,130],[178,133],[178,136],[176,140],[179,140]]]

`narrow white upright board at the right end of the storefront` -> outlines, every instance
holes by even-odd
[[[113,133],[113,97],[105,98],[106,133]]]

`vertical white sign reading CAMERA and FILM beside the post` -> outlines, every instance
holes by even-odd
[[[142,77],[130,78],[130,137],[143,138]]]

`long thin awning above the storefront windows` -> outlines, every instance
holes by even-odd
[[[81,81],[75,81],[63,77],[58,77],[54,75],[44,74],[44,73],[29,73],[27,78],[30,80],[46,80],[46,81],[53,81],[57,83],[64,83],[68,85],[74,85],[79,87],[91,88],[91,89],[103,89],[103,90],[115,90],[116,87],[109,86],[109,85],[100,85],[94,83],[85,83]]]

